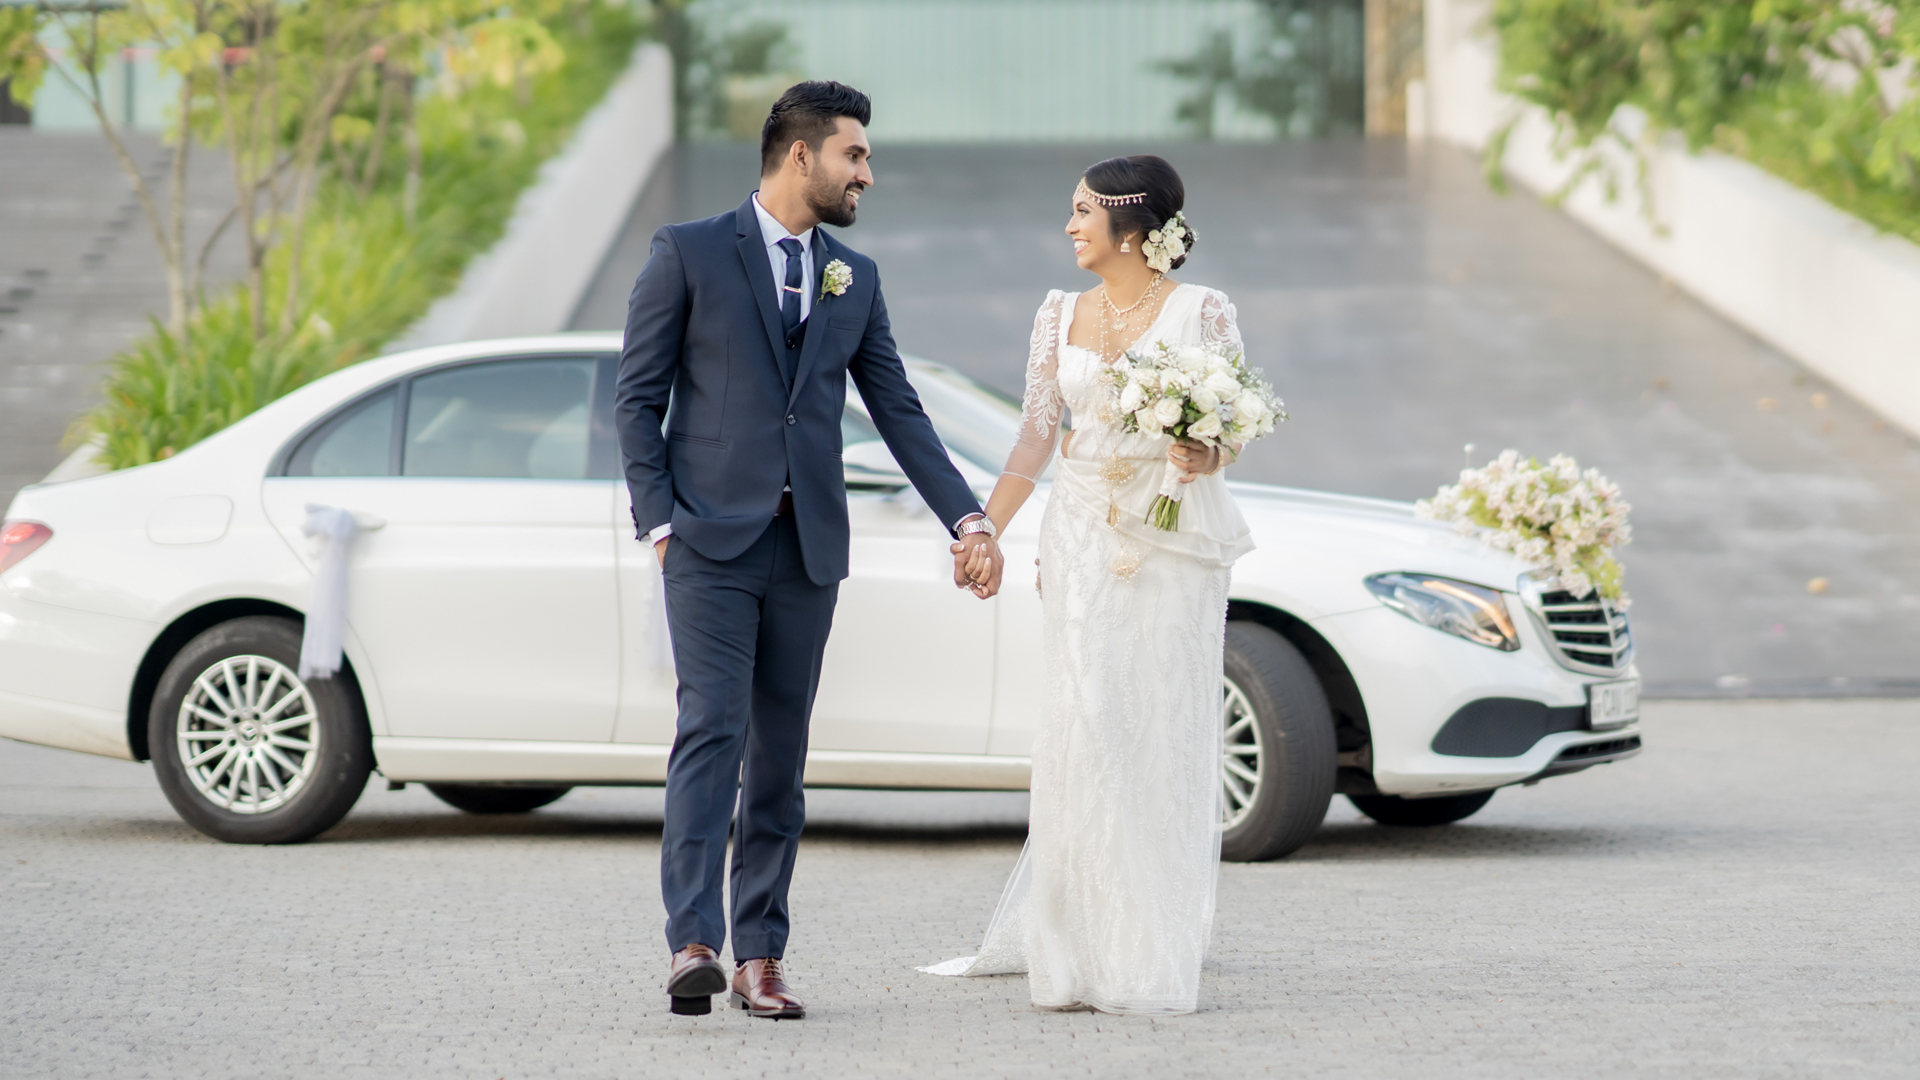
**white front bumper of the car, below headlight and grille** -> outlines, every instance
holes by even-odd
[[[1523,751],[1501,757],[1434,749],[1434,736],[1450,717],[1488,698],[1538,701],[1549,711],[1578,709],[1584,717],[1586,688],[1605,678],[1553,663],[1530,621],[1519,623],[1523,648],[1511,653],[1421,626],[1388,607],[1332,615],[1315,621],[1313,628],[1340,653],[1359,686],[1373,732],[1373,782],[1380,794],[1478,792],[1640,751],[1638,723],[1607,730],[1544,730]],[[1628,667],[1622,676],[1638,673]],[[1605,744],[1611,746],[1588,749]]]

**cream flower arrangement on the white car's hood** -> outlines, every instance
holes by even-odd
[[[1551,567],[1576,600],[1597,590],[1622,607],[1628,600],[1613,550],[1634,538],[1630,509],[1613,480],[1594,469],[1582,473],[1572,457],[1561,454],[1542,465],[1536,457],[1521,461],[1517,450],[1486,469],[1463,469],[1457,484],[1413,503],[1421,517],[1452,521],[1463,534],[1478,530],[1488,546]]]

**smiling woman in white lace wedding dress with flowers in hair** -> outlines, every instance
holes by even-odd
[[[1154,156],[1081,177],[1066,231],[1100,286],[1041,304],[1020,440],[987,502],[1004,532],[1058,444],[1035,582],[1048,701],[1027,846],[979,955],[922,970],[1023,970],[1046,1009],[1192,1013],[1213,920],[1227,575],[1254,544],[1219,477],[1235,450],[1127,434],[1104,380],[1156,342],[1240,352],[1227,296],[1167,277],[1194,242],[1185,200]],[[1144,521],[1164,463],[1187,484],[1175,532]]]

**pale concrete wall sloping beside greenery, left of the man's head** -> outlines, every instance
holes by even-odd
[[[499,242],[388,350],[564,331],[674,140],[672,83],[666,48],[641,44],[515,204]]]

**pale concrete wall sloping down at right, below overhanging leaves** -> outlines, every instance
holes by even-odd
[[[1513,117],[1503,167],[1553,192],[1572,165],[1553,154],[1538,108],[1494,90],[1498,67],[1488,0],[1427,0],[1425,117],[1409,127],[1480,150]],[[1617,123],[1636,131],[1640,117]],[[1647,194],[1634,167],[1615,202],[1597,181],[1563,204],[1624,252],[1670,277],[1728,319],[1920,434],[1920,246],[1841,213],[1824,200],[1724,154],[1688,154],[1674,138],[1651,152]],[[1663,229],[1665,227],[1665,229]]]

